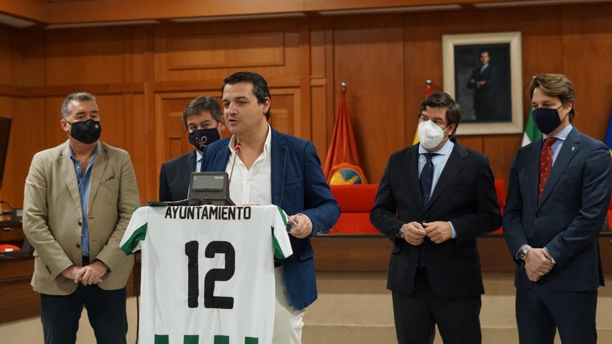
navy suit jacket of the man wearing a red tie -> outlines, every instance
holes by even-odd
[[[592,291],[603,285],[597,236],[610,205],[612,159],[600,141],[574,127],[554,160],[540,202],[540,138],[519,149],[510,169],[504,208],[504,236],[517,263],[515,286],[529,289],[521,245],[546,247],[556,261],[537,283],[554,291]]]

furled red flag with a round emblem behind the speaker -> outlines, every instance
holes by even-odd
[[[346,90],[340,92],[340,107],[334,122],[332,140],[327,149],[323,173],[329,185],[367,184],[359,166],[351,117],[346,109]]]

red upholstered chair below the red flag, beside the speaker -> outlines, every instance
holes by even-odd
[[[340,206],[340,219],[329,234],[378,234],[370,223],[378,184],[330,185]]]

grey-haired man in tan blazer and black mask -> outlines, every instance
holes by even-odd
[[[140,204],[130,155],[99,141],[91,94],[66,97],[60,124],[68,141],[34,155],[23,200],[45,343],[75,343],[83,305],[97,343],[125,343],[133,256],[119,242]]]

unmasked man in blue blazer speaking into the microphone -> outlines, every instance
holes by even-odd
[[[316,299],[310,237],[332,228],[340,208],[312,142],[267,124],[272,100],[261,75],[234,73],[225,78],[222,93],[225,122],[233,136],[206,147],[204,169],[231,175],[230,198],[237,205],[276,204],[296,223],[289,236],[294,254],[275,262],[272,343],[301,343],[304,308]],[[239,152],[237,144],[242,146]]]

